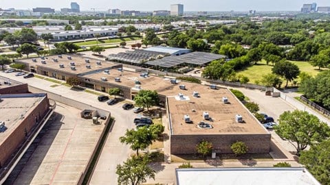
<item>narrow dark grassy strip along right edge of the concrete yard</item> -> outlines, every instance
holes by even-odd
[[[98,145],[98,149],[96,149],[96,153],[93,157],[93,159],[91,160],[91,165],[89,165],[89,169],[87,170],[87,173],[85,175],[85,178],[83,180],[83,184],[87,184],[87,182],[89,181],[89,179],[91,178],[91,173],[93,172],[95,166],[96,166],[96,162],[98,162],[98,158],[100,156],[100,153],[103,149],[105,140],[108,136],[109,130],[111,125],[113,124],[113,121],[115,120],[115,118],[111,117],[109,123],[107,124],[107,127],[105,128],[105,134],[102,136],[101,141],[100,141],[100,145]]]

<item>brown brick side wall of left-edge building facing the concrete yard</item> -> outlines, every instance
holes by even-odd
[[[36,119],[41,121],[49,107],[49,101],[47,97],[45,97],[34,110],[30,110],[30,114],[26,114],[25,118],[21,120],[20,125],[12,130],[11,134],[0,144],[0,164],[2,166],[25,140],[25,130],[29,133],[36,124]]]

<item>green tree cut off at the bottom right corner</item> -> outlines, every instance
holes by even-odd
[[[330,140],[324,140],[312,145],[308,151],[302,151],[299,162],[311,172],[314,177],[325,185],[330,185]]]

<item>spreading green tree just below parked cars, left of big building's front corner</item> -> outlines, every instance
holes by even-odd
[[[121,143],[131,145],[131,149],[136,151],[136,155],[139,156],[139,150],[146,149],[157,139],[157,136],[147,127],[140,127],[138,130],[126,130],[125,136],[121,136],[119,139]]]

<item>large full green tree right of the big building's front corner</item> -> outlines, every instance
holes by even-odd
[[[313,114],[301,110],[286,111],[281,114],[279,125],[275,126],[274,130],[278,136],[294,145],[297,156],[300,156],[300,151],[307,146],[330,136],[330,128],[326,123],[321,122]]]

